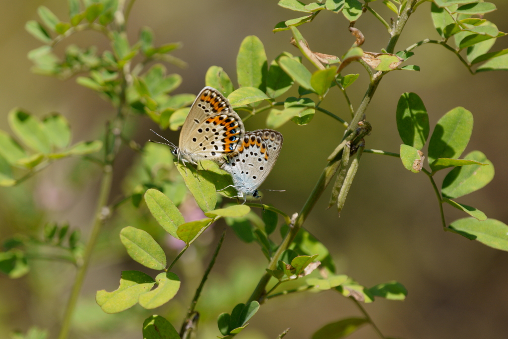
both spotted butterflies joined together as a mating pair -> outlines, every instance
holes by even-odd
[[[279,156],[282,134],[268,129],[245,132],[228,100],[207,86],[190,107],[178,147],[170,144],[178,161],[197,165],[200,160],[211,160],[219,164],[231,174],[234,184],[230,186],[237,190],[236,197],[245,202],[248,195],[259,197],[258,187]]]

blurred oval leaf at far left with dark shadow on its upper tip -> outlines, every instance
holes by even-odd
[[[50,140],[41,122],[34,115],[14,108],[9,112],[8,119],[11,129],[24,144],[38,152],[51,152]]]

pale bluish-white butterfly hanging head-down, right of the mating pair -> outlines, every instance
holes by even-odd
[[[282,134],[273,130],[247,132],[238,145],[236,155],[228,155],[227,162],[220,166],[231,174],[233,184],[228,187],[236,189],[238,195],[235,197],[243,198],[243,203],[248,195],[261,198],[258,187],[275,165],[282,140]]]

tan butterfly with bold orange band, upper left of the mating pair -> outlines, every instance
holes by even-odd
[[[173,147],[171,152],[182,163],[197,165],[200,160],[211,160],[222,164],[225,155],[236,154],[244,134],[243,122],[228,99],[215,88],[206,86],[190,106],[178,147],[163,139]]]

